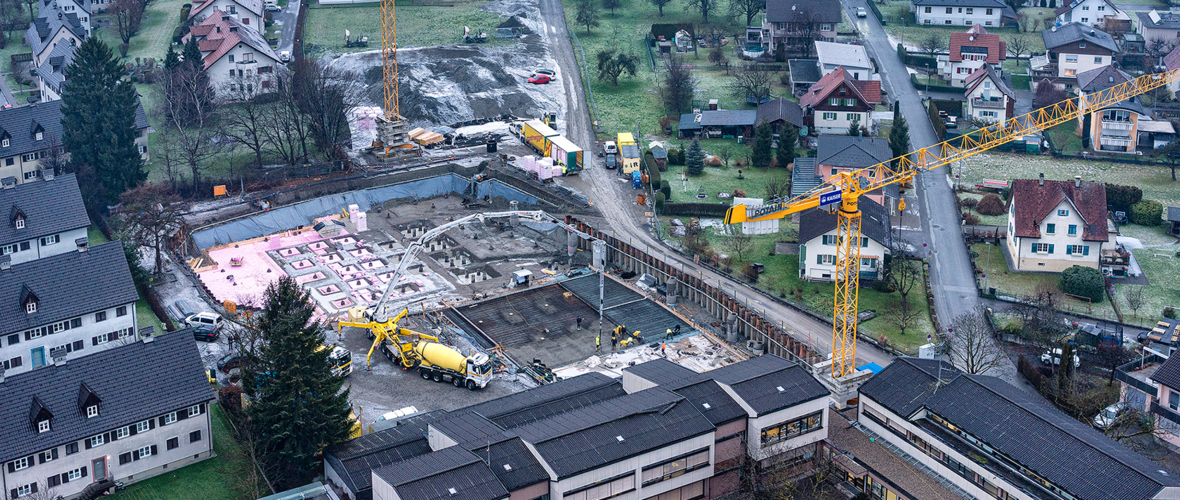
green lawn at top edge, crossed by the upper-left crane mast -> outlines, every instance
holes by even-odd
[[[398,2],[398,47],[428,47],[463,42],[463,27],[487,32],[489,42],[494,27],[504,20],[496,13],[480,9],[484,2],[451,2],[445,6],[415,6],[412,1]],[[345,48],[345,29],[355,39],[367,35],[368,47]],[[303,24],[303,52],[307,54],[341,54],[381,50],[381,6],[378,2],[337,6],[312,4]]]

